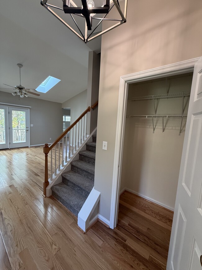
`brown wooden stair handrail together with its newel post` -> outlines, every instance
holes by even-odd
[[[48,153],[53,147],[59,143],[59,141],[81,120],[83,116],[86,115],[91,109],[94,110],[98,106],[98,101],[95,102],[93,106],[89,106],[55,141],[53,144],[48,146],[48,144],[44,145],[44,154],[45,154],[45,179],[44,179],[44,196],[46,196],[46,188],[49,185],[48,182]]]

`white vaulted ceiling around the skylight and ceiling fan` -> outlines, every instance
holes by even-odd
[[[100,52],[100,46],[101,38],[85,45],[40,0],[2,0],[0,88],[5,87],[3,83],[19,84],[17,63],[21,63],[21,84],[26,88],[37,88],[49,75],[61,79],[36,98],[62,103],[87,88],[88,53]]]

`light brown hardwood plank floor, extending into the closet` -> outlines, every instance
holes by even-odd
[[[117,227],[83,234],[43,181],[43,147],[0,151],[0,269],[166,269],[171,211],[125,192]]]

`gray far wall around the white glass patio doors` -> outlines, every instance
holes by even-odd
[[[0,102],[31,106],[30,145],[53,143],[62,133],[62,104],[34,97],[20,97],[0,91]],[[52,140],[50,140],[52,138]]]

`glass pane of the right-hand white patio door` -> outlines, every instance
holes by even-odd
[[[13,143],[26,142],[25,111],[12,110],[12,140]]]

